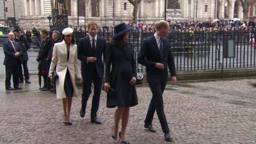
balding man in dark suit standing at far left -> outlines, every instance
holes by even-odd
[[[15,42],[14,33],[8,33],[8,41],[4,42],[4,65],[5,65],[5,89],[21,90],[19,88],[19,67],[22,59],[20,59],[19,43]],[[13,88],[11,86],[11,77],[13,79]]]

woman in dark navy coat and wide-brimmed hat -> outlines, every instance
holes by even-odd
[[[124,22],[115,26],[112,40],[108,42],[106,49],[106,82],[104,91],[107,92],[107,107],[115,108],[115,126],[112,138],[121,143],[125,141],[125,130],[129,120],[129,108],[138,104],[138,98],[134,84],[136,83],[136,62],[132,44],[127,41],[129,31]],[[118,134],[118,124],[122,119],[122,129]]]

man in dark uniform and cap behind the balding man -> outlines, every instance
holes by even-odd
[[[19,74],[19,80],[20,83],[24,82],[24,77],[25,77],[25,82],[26,83],[31,83],[29,81],[29,70],[28,70],[28,41],[26,36],[21,35],[20,29],[14,29],[13,33],[15,35],[15,42],[18,42],[20,45],[20,51],[22,51],[22,54],[20,55],[20,58],[22,59],[22,63],[20,65],[20,74]],[[24,76],[22,72],[22,66],[24,70]]]

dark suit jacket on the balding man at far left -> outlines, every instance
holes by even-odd
[[[20,52],[19,43],[15,42],[15,45],[16,45],[16,49],[15,49],[16,52]],[[3,50],[4,50],[4,65],[15,65],[21,62],[20,57],[15,58],[15,51],[13,50],[13,46],[10,40],[4,42]],[[22,52],[20,52],[20,55],[21,54]]]

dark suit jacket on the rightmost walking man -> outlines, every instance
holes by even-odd
[[[168,38],[163,38],[163,58],[161,58],[156,38],[153,35],[143,41],[138,55],[138,63],[146,66],[147,74],[164,76],[164,79],[167,80],[169,68],[171,76],[176,76],[175,63],[170,47],[170,40]],[[156,68],[156,63],[163,63],[164,69],[161,70]]]

